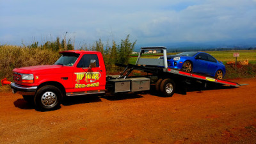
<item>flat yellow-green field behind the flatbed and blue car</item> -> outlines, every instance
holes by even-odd
[[[256,50],[241,50],[241,51],[206,51],[207,53],[214,56],[219,61],[222,61],[224,64],[227,61],[235,61],[236,58],[233,57],[233,53],[239,53],[240,56],[237,58],[237,61],[249,60],[249,63],[256,64]],[[173,55],[177,53],[168,53],[168,55]],[[133,55],[129,61],[129,63],[136,63],[138,55]],[[159,56],[154,56],[154,54],[150,54],[148,58],[158,58]]]

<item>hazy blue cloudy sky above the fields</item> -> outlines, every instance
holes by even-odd
[[[81,47],[99,38],[120,42],[127,35],[141,46],[256,46],[256,0],[0,0],[0,45],[66,36]]]

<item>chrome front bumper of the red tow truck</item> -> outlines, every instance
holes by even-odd
[[[13,93],[19,93],[20,95],[35,95],[37,86],[22,86],[20,84],[11,83]]]

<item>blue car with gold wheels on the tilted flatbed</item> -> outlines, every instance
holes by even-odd
[[[163,56],[160,57],[163,59]],[[168,67],[186,72],[195,72],[223,79],[226,74],[225,65],[205,52],[182,52],[167,56]]]

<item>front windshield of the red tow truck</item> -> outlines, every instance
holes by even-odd
[[[67,65],[72,66],[76,62],[80,54],[76,53],[63,53],[62,56],[57,60],[54,65]]]

